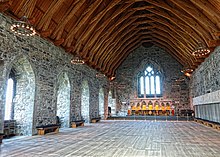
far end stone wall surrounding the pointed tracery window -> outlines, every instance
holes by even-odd
[[[188,78],[184,77],[184,82],[177,85],[175,82],[176,79],[183,77],[181,64],[165,50],[153,45],[137,48],[118,68],[115,83],[126,85],[123,89],[116,88],[117,102],[121,103],[117,105],[118,112],[123,108],[120,107],[122,102],[129,102],[137,98],[137,73],[146,68],[149,63],[156,63],[161,68],[163,75],[162,99],[175,102],[176,109],[189,108]]]

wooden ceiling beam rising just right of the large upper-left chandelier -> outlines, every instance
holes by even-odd
[[[65,2],[65,0],[52,1],[49,8],[44,13],[44,15],[41,18],[41,20],[39,21],[39,23],[37,24],[37,29],[38,30],[42,29],[43,31],[45,31],[45,30],[48,29],[52,17],[58,11],[58,9],[60,9],[63,2]]]

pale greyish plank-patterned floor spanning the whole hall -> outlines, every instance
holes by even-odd
[[[195,122],[101,121],[5,139],[1,157],[220,157],[220,131]]]

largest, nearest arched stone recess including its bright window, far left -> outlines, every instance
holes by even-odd
[[[17,135],[32,135],[35,76],[26,58],[19,58],[8,72],[5,120],[15,120]]]

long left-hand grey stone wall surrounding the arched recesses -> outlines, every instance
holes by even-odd
[[[89,83],[89,105],[90,115],[98,113],[99,87],[107,87],[106,78],[97,79],[96,71],[86,65],[72,65],[71,54],[66,53],[62,48],[54,46],[50,41],[44,40],[39,36],[19,37],[10,31],[11,19],[0,14],[0,132],[3,131],[5,89],[8,74],[12,65],[17,62],[20,56],[25,60],[21,62],[29,63],[33,70],[34,85],[31,91],[34,91],[33,104],[33,131],[30,126],[25,125],[20,134],[36,134],[35,127],[41,124],[52,124],[56,122],[57,115],[57,96],[58,96],[58,76],[65,72],[70,81],[70,118],[79,117],[81,112],[81,82],[88,80]],[[26,69],[26,71],[28,71]],[[17,76],[22,76],[17,74]],[[29,86],[29,81],[25,82]],[[30,90],[25,91],[29,93]],[[105,92],[106,93],[106,92]],[[17,96],[17,95],[16,95]],[[28,95],[27,95],[28,98]],[[19,102],[25,102],[24,97],[19,97]],[[105,99],[107,97],[105,96]],[[105,100],[107,101],[107,100]],[[105,103],[105,105],[107,105]],[[105,106],[107,108],[107,106]],[[20,109],[22,110],[22,109]],[[26,110],[23,108],[23,110]],[[26,124],[26,122],[21,122]]]

